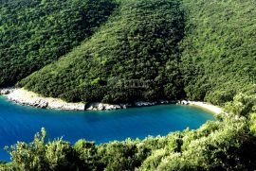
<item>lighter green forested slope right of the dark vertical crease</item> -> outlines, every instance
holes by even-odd
[[[221,105],[256,92],[256,1],[184,0],[182,70],[190,99]]]

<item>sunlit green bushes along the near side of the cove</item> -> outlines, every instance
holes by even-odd
[[[79,140],[45,141],[46,130],[32,143],[9,148],[12,162],[3,170],[255,170],[256,96],[237,95],[218,116],[197,130],[95,145]]]

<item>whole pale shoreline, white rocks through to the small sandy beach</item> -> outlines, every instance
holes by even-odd
[[[17,103],[22,106],[30,106],[34,108],[41,109],[51,109],[51,110],[62,110],[62,111],[112,111],[127,109],[133,107],[147,107],[163,104],[179,104],[179,105],[188,105],[195,106],[201,109],[210,111],[214,114],[227,113],[223,111],[220,107],[211,105],[209,103],[200,102],[200,101],[189,101],[189,100],[178,100],[178,101],[168,101],[160,100],[158,102],[145,102],[137,101],[132,104],[105,104],[105,103],[68,103],[60,98],[44,97],[33,92],[29,92],[25,89],[2,89],[0,90],[0,95],[7,96],[8,100],[14,103]]]

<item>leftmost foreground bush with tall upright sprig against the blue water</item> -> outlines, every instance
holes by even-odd
[[[30,144],[18,142],[8,150],[16,170],[73,170],[78,166],[78,154],[62,139],[45,143],[46,130],[35,135]],[[11,169],[12,170],[12,169]]]

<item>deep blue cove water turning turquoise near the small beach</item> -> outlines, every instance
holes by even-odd
[[[30,142],[42,127],[47,139],[63,137],[97,144],[128,137],[166,135],[175,130],[199,128],[214,117],[208,111],[190,106],[161,105],[120,111],[53,111],[23,107],[0,96],[0,160],[9,161],[5,145]]]

